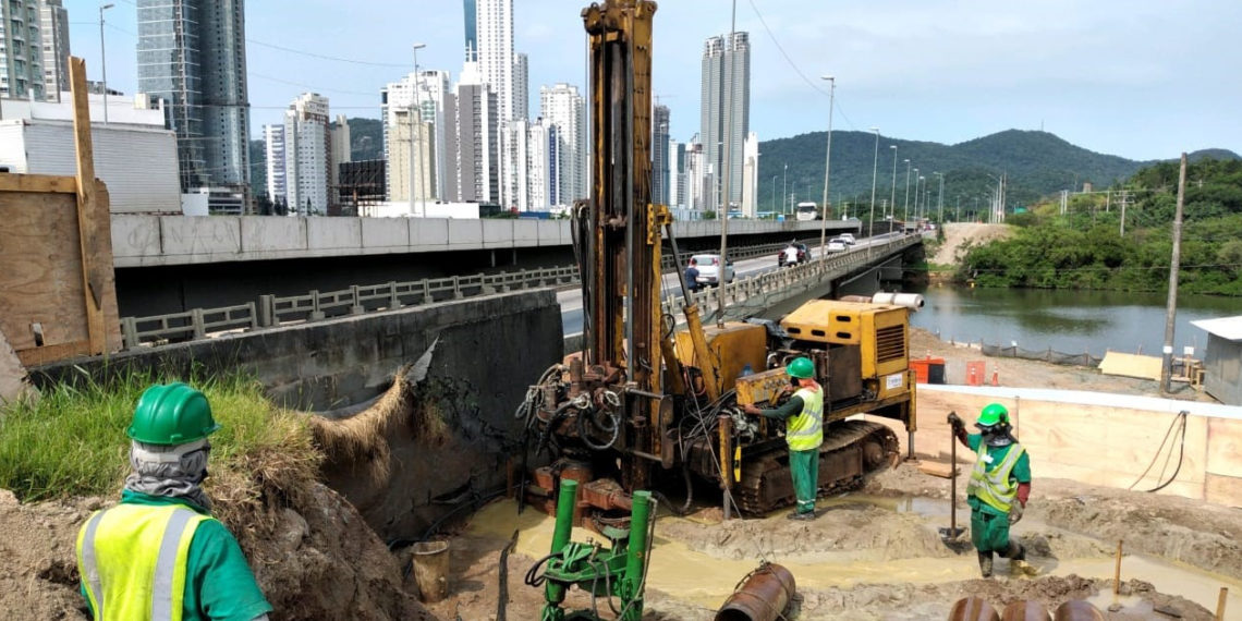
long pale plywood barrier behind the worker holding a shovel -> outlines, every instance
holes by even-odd
[[[970,421],[990,402],[1004,404],[1016,435],[1031,453],[1036,478],[1068,478],[1094,486],[1150,489],[1170,447],[1161,441],[1176,412],[1185,409],[1185,457],[1176,479],[1159,493],[1242,507],[1242,409],[1194,401],[1071,390],[919,385],[917,453],[948,461],[945,415],[956,410]],[[897,430],[897,427],[894,427]],[[905,433],[898,431],[902,451]],[[1166,476],[1177,461],[1174,445]],[[1135,484],[1159,451],[1153,471]],[[965,453],[965,455],[964,455]],[[958,460],[974,462],[959,447]],[[1038,497],[1038,488],[1032,496]]]

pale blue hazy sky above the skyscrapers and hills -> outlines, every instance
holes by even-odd
[[[106,12],[108,84],[137,91],[134,0]],[[585,84],[587,2],[514,0],[514,51],[540,86]],[[65,0],[75,56],[99,73],[98,2]],[[655,17],[653,91],[671,135],[698,132],[705,39],[730,29],[729,0],[663,0]],[[1237,0],[737,0],[750,34],[750,128],[761,140],[835,130],[956,144],[1005,129],[1045,129],[1093,152],[1169,159],[1242,153],[1242,2]],[[379,118],[379,92],[414,67],[461,73],[460,0],[246,2],[251,134],[298,94],[333,116]],[[283,48],[283,50],[282,50]],[[320,57],[315,57],[318,55]],[[333,57],[339,60],[328,60]],[[349,61],[349,62],[347,62]]]

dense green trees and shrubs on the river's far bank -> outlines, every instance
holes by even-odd
[[[1109,193],[1010,216],[1016,235],[970,248],[958,278],[981,287],[1164,291],[1172,256],[1177,163],[1138,171]],[[1128,195],[1122,235],[1122,191]],[[1202,158],[1186,175],[1179,291],[1242,296],[1242,161]]]

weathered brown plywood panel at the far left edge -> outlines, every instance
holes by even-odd
[[[0,330],[16,351],[87,340],[72,194],[0,193]]]

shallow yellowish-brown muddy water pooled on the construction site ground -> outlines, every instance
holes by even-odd
[[[928,519],[928,528],[948,525],[949,505],[944,501],[853,494],[822,502],[828,508],[843,508],[851,503],[874,504],[902,513],[917,513]],[[959,509],[959,525],[961,525],[964,517],[969,523],[969,513],[963,513]],[[666,520],[672,523],[677,519],[679,518],[661,518],[661,523],[657,524],[647,585],[673,595],[678,600],[715,610],[733,592],[738,580],[763,560],[763,550],[756,544],[749,558],[723,559],[718,555],[709,555],[698,546],[692,548],[696,545],[694,543],[688,544],[662,537],[661,525]],[[766,522],[773,522],[773,527],[776,528],[784,523],[784,515],[766,518]],[[941,522],[944,524],[940,524]],[[811,524],[814,528],[814,523]],[[520,530],[518,551],[530,558],[542,558],[548,554],[551,545],[553,525],[553,518],[529,508],[522,515],[517,515],[515,503],[504,501],[488,505],[476,514],[469,527],[469,534],[508,539],[513,529],[517,528]],[[1036,529],[1043,528],[1035,523],[1023,524],[1023,527],[1026,527],[1025,532],[1036,532]],[[574,529],[573,539],[585,542],[589,539],[601,540],[602,538],[585,529]],[[1107,546],[1102,543],[1100,549],[1107,549]],[[768,560],[785,565],[796,576],[799,587],[807,590],[851,587],[861,584],[954,582],[979,578],[979,566],[974,554],[948,558],[867,560],[859,555],[841,551],[809,551],[799,554],[795,561],[780,558],[769,558]],[[1108,579],[1113,576],[1113,559],[1105,556],[1074,560],[1033,558],[1031,560],[1045,574],[1058,576],[1078,574],[1084,578]],[[1122,566],[1123,580],[1136,578],[1149,581],[1161,592],[1181,595],[1208,610],[1216,610],[1220,586],[1228,586],[1230,599],[1226,619],[1242,621],[1242,582],[1240,581],[1138,555],[1125,556]],[[1006,569],[1006,561],[999,560],[997,573],[1005,575]],[[1094,604],[1107,609],[1113,602],[1112,594],[1103,594],[1103,597]],[[948,604],[950,602],[945,602],[945,605]],[[1122,601],[1122,604],[1128,602]],[[1140,612],[1143,610],[1140,602],[1131,600],[1129,605],[1134,607],[1128,607],[1126,611]]]

